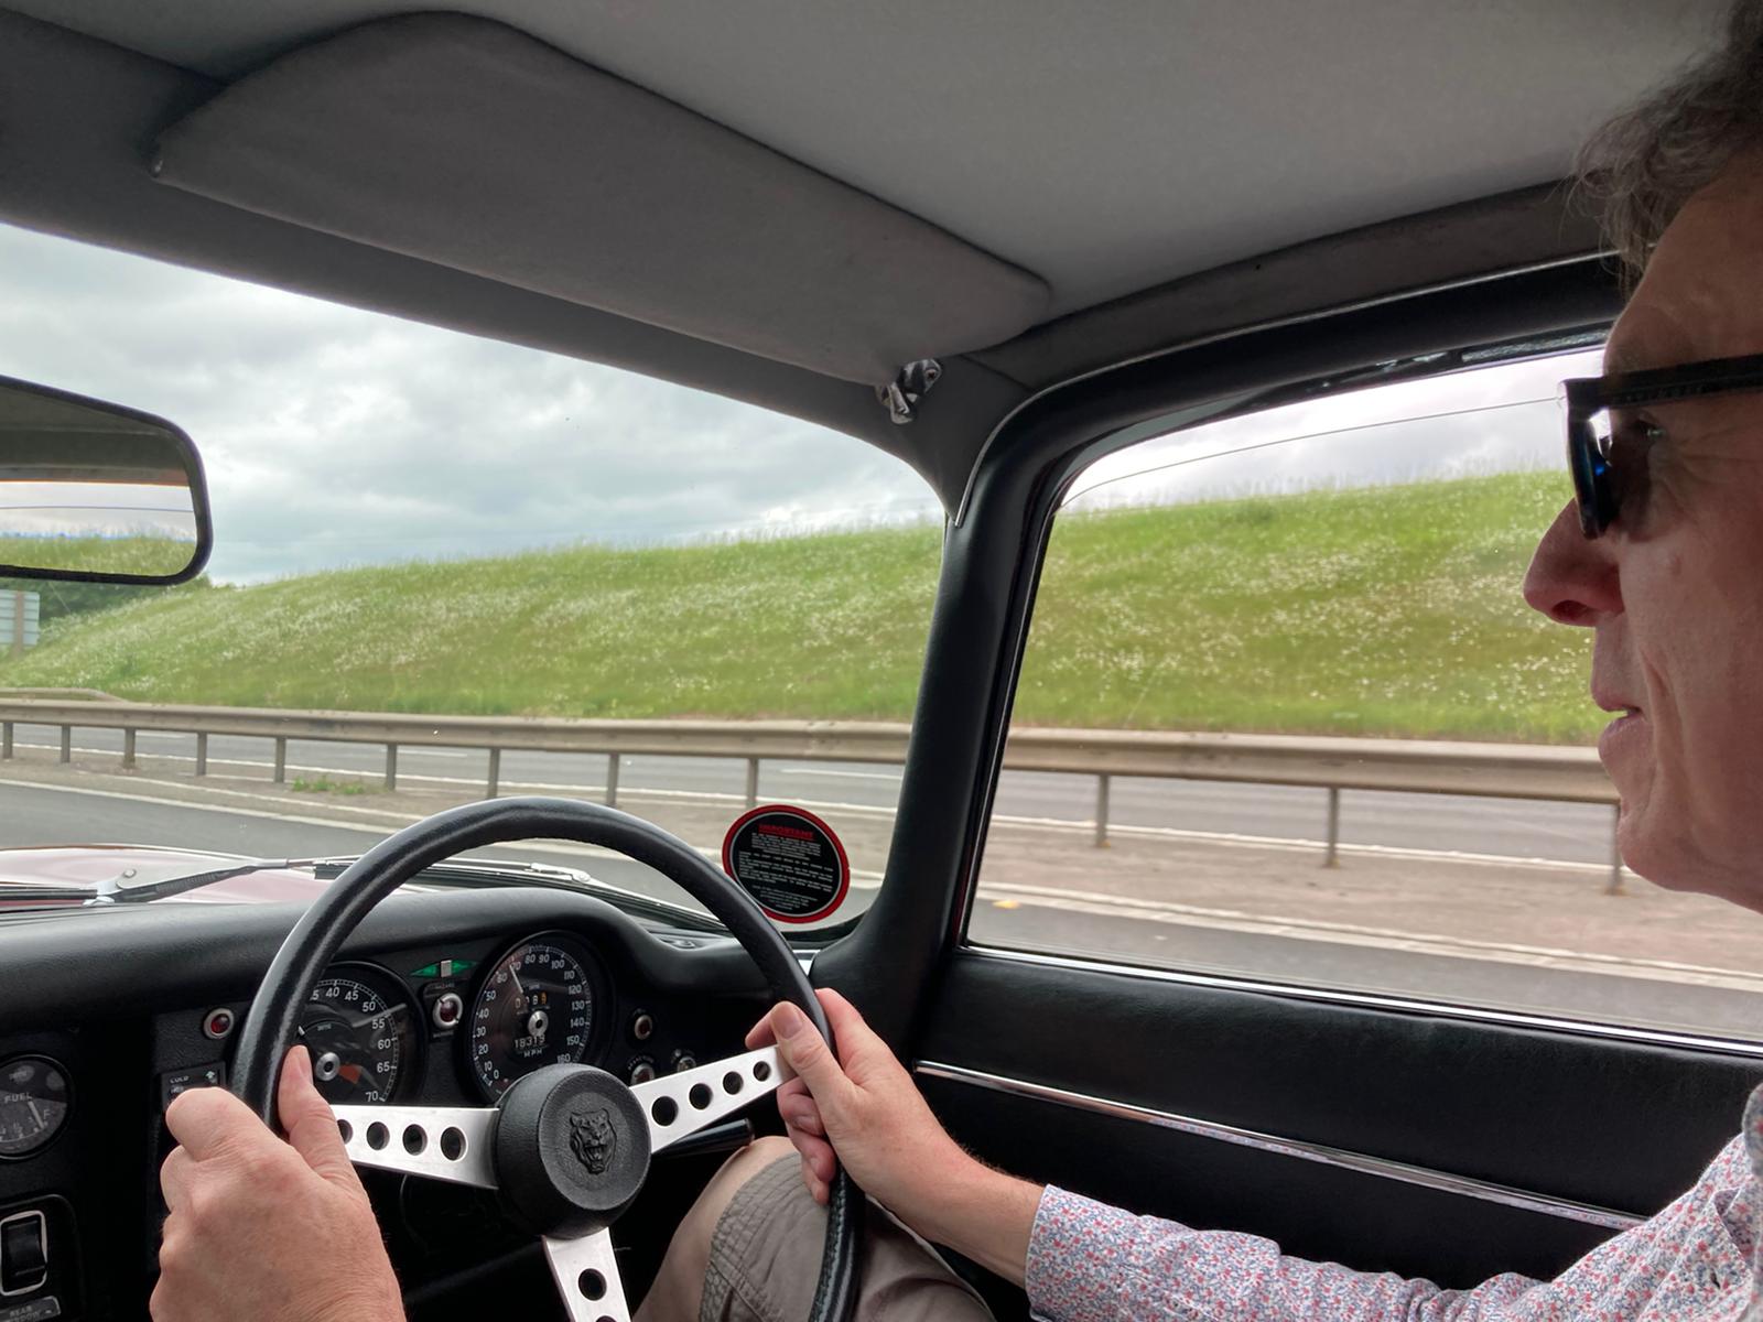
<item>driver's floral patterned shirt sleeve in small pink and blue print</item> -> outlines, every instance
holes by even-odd
[[[1763,1088],[1744,1132],[1645,1225],[1553,1281],[1507,1273],[1472,1290],[1283,1257],[1047,1188],[1028,1244],[1042,1322],[1763,1322]]]

